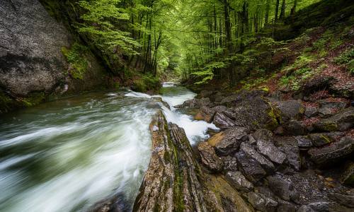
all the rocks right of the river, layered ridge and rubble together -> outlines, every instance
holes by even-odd
[[[159,112],[134,211],[353,211],[348,100],[203,90],[176,107],[198,109],[195,119],[221,131],[193,150]]]

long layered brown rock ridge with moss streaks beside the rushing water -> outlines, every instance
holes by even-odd
[[[167,124],[161,111],[150,131],[152,157],[133,211],[223,211],[225,199],[239,211],[251,211],[224,179],[202,171],[184,130]]]

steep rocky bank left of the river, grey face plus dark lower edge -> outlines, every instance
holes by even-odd
[[[73,77],[63,49],[76,38],[37,0],[1,1],[0,32],[0,113],[107,84],[103,67],[89,51],[80,55],[85,73]]]

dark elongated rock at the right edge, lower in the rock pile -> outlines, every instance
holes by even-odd
[[[354,139],[346,136],[338,142],[331,143],[330,146],[311,148],[309,150],[309,155],[314,163],[319,165],[327,165],[350,155],[353,151]]]

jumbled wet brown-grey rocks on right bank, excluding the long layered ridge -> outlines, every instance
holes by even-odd
[[[353,210],[354,107],[348,100],[280,100],[263,90],[203,90],[198,97],[181,107],[199,108],[195,119],[222,129],[198,144],[200,162],[253,208]]]

